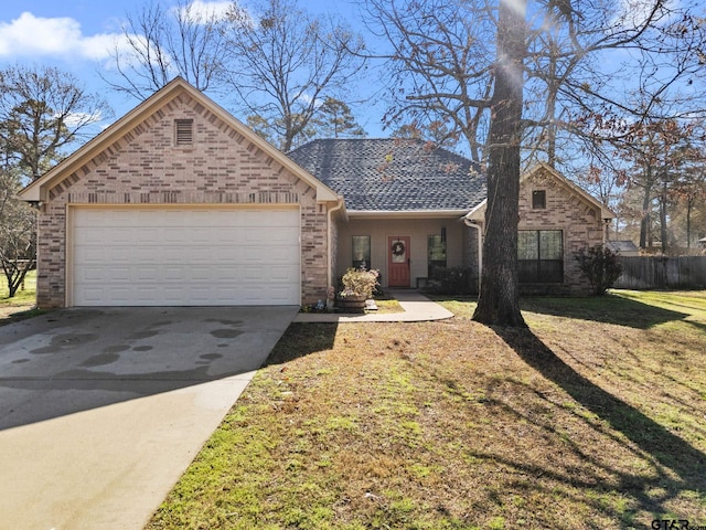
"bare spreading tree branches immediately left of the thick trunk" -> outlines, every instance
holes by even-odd
[[[366,0],[370,25],[389,60],[389,109],[400,130],[443,124],[440,142],[463,138],[474,161],[483,159],[493,87],[496,26],[483,1]],[[402,129],[405,130],[405,129]]]

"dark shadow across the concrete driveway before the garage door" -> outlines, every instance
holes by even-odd
[[[0,327],[0,430],[257,370],[297,310],[75,308]]]

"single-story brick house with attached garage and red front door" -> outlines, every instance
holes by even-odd
[[[612,214],[552,168],[522,179],[521,279],[582,293],[573,252]],[[482,266],[484,178],[400,139],[315,140],[289,156],[181,78],[25,188],[38,305],[301,305],[346,267],[416,287]]]

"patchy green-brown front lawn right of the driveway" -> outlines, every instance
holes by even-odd
[[[689,295],[532,298],[531,332],[463,300],[440,322],[292,325],[148,528],[706,524]]]

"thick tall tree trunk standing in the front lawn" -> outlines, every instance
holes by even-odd
[[[520,312],[517,222],[526,0],[501,0],[491,99],[483,271],[473,320],[526,327]]]

